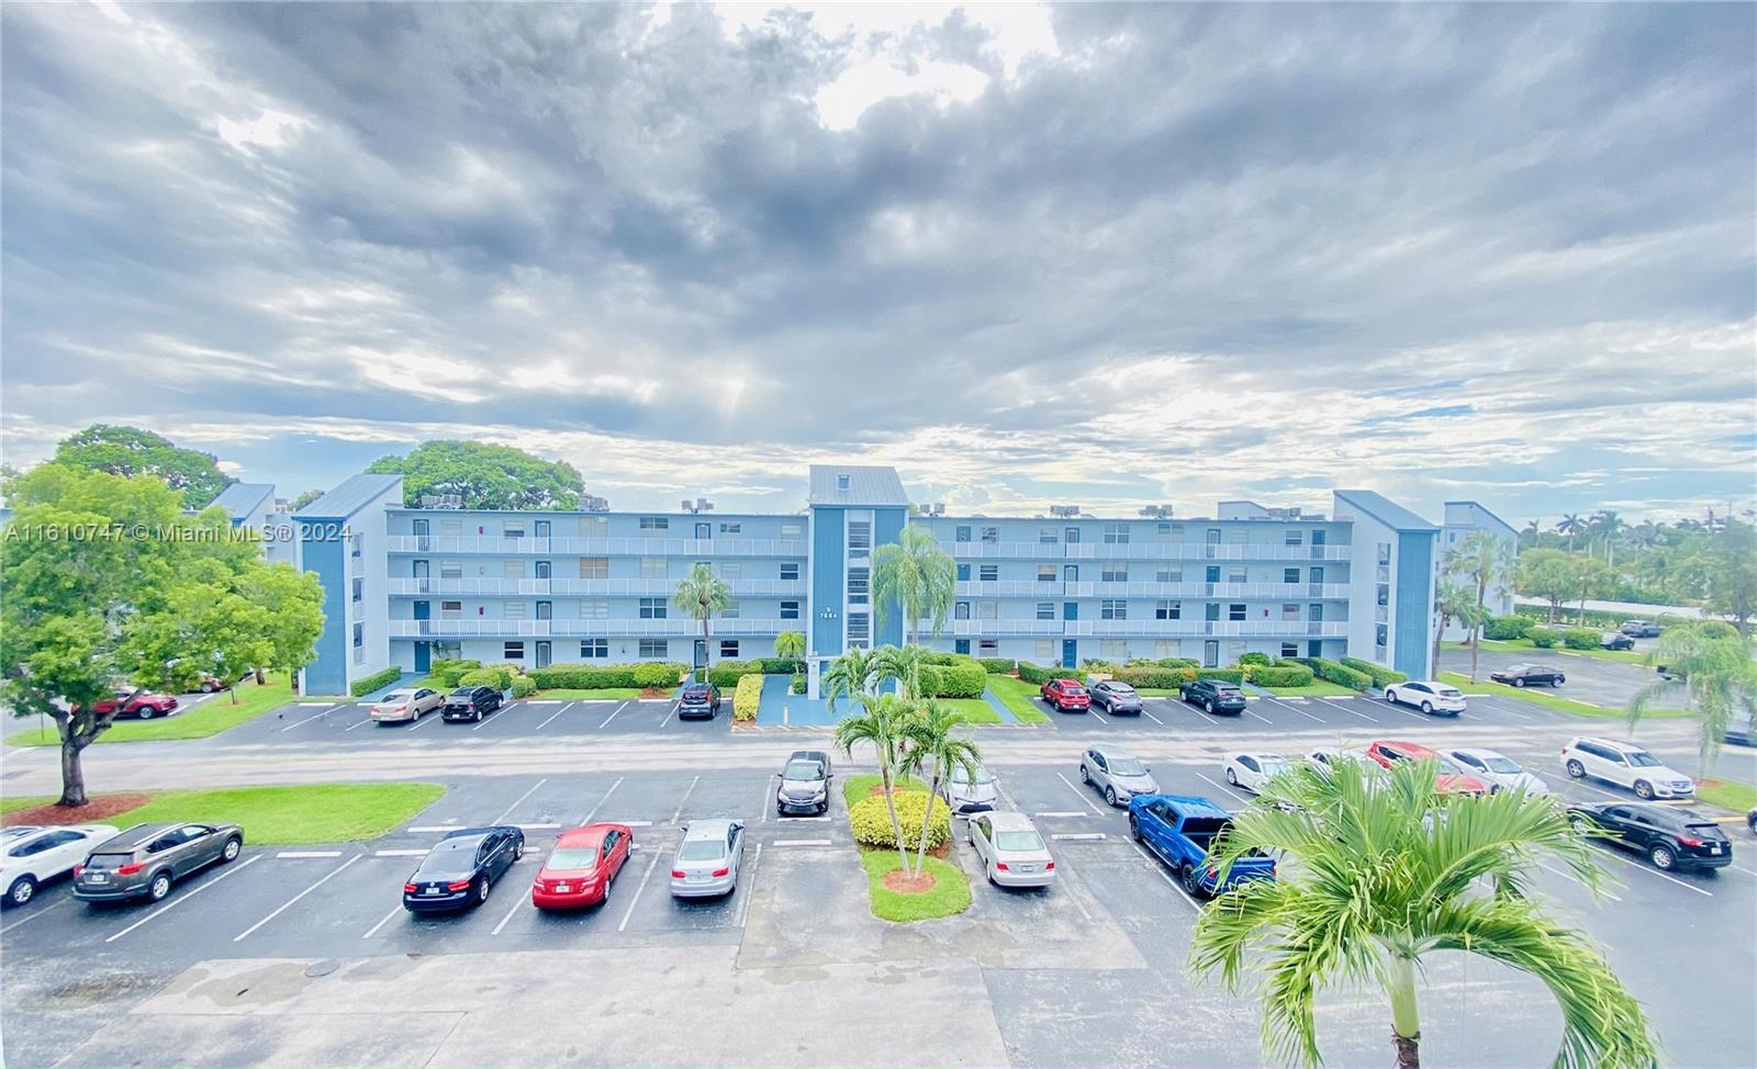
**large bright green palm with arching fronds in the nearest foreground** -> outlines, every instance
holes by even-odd
[[[1657,1039],[1641,1004],[1587,937],[1529,897],[1541,855],[1592,890],[1594,850],[1550,799],[1500,792],[1439,793],[1432,762],[1390,771],[1341,762],[1272,779],[1214,846],[1219,872],[1253,851],[1286,862],[1276,879],[1244,881],[1197,920],[1189,964],[1237,988],[1263,974],[1265,1060],[1320,1062],[1318,995],[1334,983],[1377,983],[1390,1002],[1399,1069],[1420,1065],[1416,976],[1421,960],[1462,950],[1530,972],[1562,1008],[1567,1069],[1652,1069]]]

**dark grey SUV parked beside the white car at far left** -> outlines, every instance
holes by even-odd
[[[244,829],[235,823],[137,823],[91,848],[74,867],[81,902],[158,902],[176,881],[213,864],[235,860]]]

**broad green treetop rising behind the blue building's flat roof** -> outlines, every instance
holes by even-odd
[[[439,439],[406,456],[380,456],[369,472],[402,476],[402,504],[455,493],[466,509],[578,509],[585,483],[566,460],[543,460],[511,446]]]

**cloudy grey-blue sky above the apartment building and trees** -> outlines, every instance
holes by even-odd
[[[1748,504],[1752,5],[32,5],[4,448],[617,507]]]

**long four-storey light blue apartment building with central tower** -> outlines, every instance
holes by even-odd
[[[1328,516],[1221,502],[1212,518],[912,514],[894,469],[813,465],[798,513],[411,509],[397,476],[353,476],[295,514],[327,627],[311,692],[469,656],[529,669],[771,656],[806,635],[810,685],[856,646],[903,639],[873,549],[917,525],[958,569],[936,649],[1079,665],[1188,656],[1360,656],[1425,674],[1441,528],[1365,490]],[[705,642],[671,606],[706,563],[731,607]],[[924,627],[922,634],[929,628]]]

